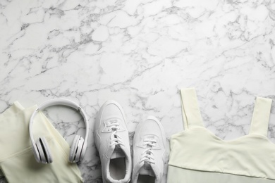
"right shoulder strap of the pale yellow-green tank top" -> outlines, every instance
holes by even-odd
[[[267,136],[271,103],[271,99],[257,96],[252,115],[250,134],[262,134]]]

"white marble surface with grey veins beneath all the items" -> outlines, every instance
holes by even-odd
[[[123,106],[130,137],[155,115],[169,141],[183,130],[178,89],[195,87],[209,130],[247,134],[255,96],[275,100],[274,25],[274,0],[1,0],[0,112],[14,101],[80,103],[91,133],[79,167],[85,182],[102,182],[92,130],[108,99]],[[79,115],[47,112],[69,143],[83,134]]]

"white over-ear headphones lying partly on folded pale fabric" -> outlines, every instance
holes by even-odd
[[[73,101],[69,101],[67,99],[51,99],[49,101],[45,101],[42,103],[38,108],[32,113],[32,116],[30,117],[30,124],[29,124],[29,131],[30,131],[30,140],[32,141],[32,151],[35,155],[35,160],[37,160],[38,163],[51,163],[52,157],[51,157],[51,151],[49,151],[49,145],[47,143],[47,140],[44,137],[40,137],[36,142],[35,139],[32,136],[32,123],[35,119],[35,115],[37,114],[37,111],[42,111],[44,108],[47,108],[49,106],[56,106],[56,105],[62,105],[62,106],[69,106],[71,108],[75,108],[77,111],[80,112],[82,115],[85,125],[86,125],[86,133],[85,133],[85,139],[83,139],[80,135],[76,135],[73,139],[73,144],[71,146],[70,150],[70,156],[69,156],[69,162],[70,163],[77,163],[78,161],[82,160],[85,155],[85,151],[87,149],[87,139],[88,139],[88,131],[89,131],[89,124],[87,122],[87,115],[83,111],[83,109],[78,106],[77,103]]]

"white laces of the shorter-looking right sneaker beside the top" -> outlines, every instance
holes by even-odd
[[[145,163],[152,163],[154,164],[154,153],[152,151],[153,147],[156,146],[157,140],[155,139],[145,139],[144,146],[148,146],[145,151],[142,152],[141,162],[144,161]]]

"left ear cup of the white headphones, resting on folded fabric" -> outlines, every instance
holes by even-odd
[[[49,151],[49,145],[47,143],[47,140],[44,137],[42,137],[39,138],[35,144],[39,152],[41,160],[40,163],[52,163],[51,152]]]

